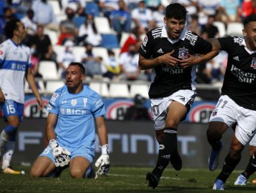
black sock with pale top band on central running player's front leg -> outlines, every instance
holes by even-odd
[[[177,129],[165,128],[163,141],[159,145],[158,160],[153,172],[162,175],[163,170],[170,162],[170,157],[177,151]]]

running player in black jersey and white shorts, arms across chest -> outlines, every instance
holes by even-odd
[[[177,150],[177,128],[194,103],[196,96],[196,66],[218,53],[212,45],[185,28],[187,11],[181,4],[165,8],[165,26],[147,32],[140,45],[139,68],[152,68],[149,98],[152,118],[159,145],[158,160],[152,172],[147,173],[149,187],[155,188],[163,170],[172,163],[181,170],[182,161]],[[195,57],[193,54],[204,54]],[[186,59],[188,68],[179,64]],[[194,65],[194,66],[192,66]]]

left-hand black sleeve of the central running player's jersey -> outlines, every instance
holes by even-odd
[[[149,31],[145,35],[143,39],[143,43],[141,43],[138,52],[145,59],[149,59],[152,56],[153,47],[154,47],[154,38],[152,36],[152,31]]]

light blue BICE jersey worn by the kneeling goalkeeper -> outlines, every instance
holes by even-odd
[[[84,85],[81,92],[71,94],[64,85],[55,91],[47,110],[57,114],[58,142],[69,148],[85,146],[94,150],[94,118],[105,114],[104,103],[97,92]]]

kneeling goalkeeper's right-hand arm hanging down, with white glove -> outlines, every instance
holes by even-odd
[[[107,128],[105,125],[104,117],[98,116],[95,118],[97,125],[97,132],[100,139],[101,156],[95,162],[95,166],[99,167],[96,174],[107,174],[110,171],[109,162],[109,145],[107,139]]]

